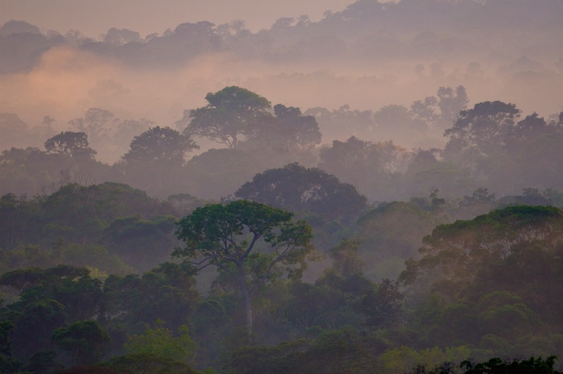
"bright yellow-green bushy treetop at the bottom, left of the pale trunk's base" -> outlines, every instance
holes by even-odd
[[[125,344],[125,349],[129,354],[152,355],[193,365],[198,344],[191,340],[186,325],[178,328],[175,337],[171,330],[164,327],[162,320],[157,320],[152,328],[147,326],[141,335],[129,337],[129,343]]]

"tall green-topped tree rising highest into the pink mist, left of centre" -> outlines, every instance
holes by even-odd
[[[228,86],[205,96],[208,105],[184,111],[178,121],[186,126],[184,134],[200,136],[229,148],[236,148],[241,136],[252,138],[259,124],[272,120],[270,101],[237,86]]]

